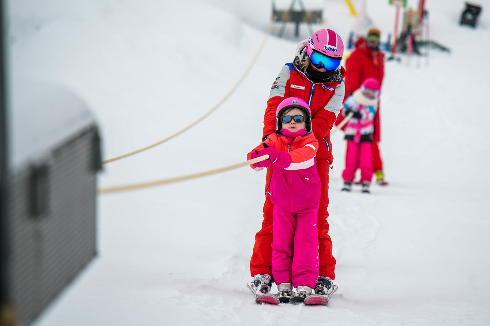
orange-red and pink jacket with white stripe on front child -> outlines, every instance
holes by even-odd
[[[272,134],[264,141],[268,146],[274,147],[278,152],[283,151],[291,156],[291,164],[286,168],[272,165],[272,179],[269,194],[274,205],[283,210],[299,212],[320,199],[320,178],[316,168],[316,154],[318,140],[313,133],[299,136],[290,141],[278,134]],[[261,151],[264,145],[260,144],[247,155]],[[260,171],[264,167],[250,165],[254,170]]]

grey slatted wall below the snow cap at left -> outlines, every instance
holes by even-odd
[[[50,153],[41,168],[25,168],[11,180],[10,279],[20,326],[96,255],[98,150],[94,126]]]

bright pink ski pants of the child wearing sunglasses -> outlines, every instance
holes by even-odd
[[[319,202],[301,212],[274,206],[272,221],[272,276],[276,284],[315,287],[318,278]]]

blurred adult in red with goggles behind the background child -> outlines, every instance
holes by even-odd
[[[361,87],[362,82],[368,78],[376,78],[380,84],[384,77],[384,53],[379,50],[380,31],[371,28],[366,38],[360,38],[355,43],[355,50],[347,58],[345,69],[345,98]],[[343,120],[344,116],[339,115],[337,124]],[[372,142],[373,171],[376,181],[384,182],[383,161],[379,152],[378,142],[381,141],[381,122],[380,110],[374,116],[374,135]]]

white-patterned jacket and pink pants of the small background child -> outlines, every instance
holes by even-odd
[[[357,95],[357,94],[356,94]],[[372,137],[374,132],[374,116],[377,110],[377,100],[370,105],[360,104],[354,95],[345,99],[343,114],[348,111],[355,113],[345,126],[345,139],[347,140],[347,154],[345,156],[345,169],[342,178],[353,181],[354,173],[361,169],[361,182],[371,181],[372,165]]]

